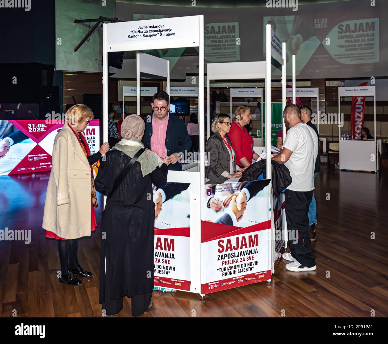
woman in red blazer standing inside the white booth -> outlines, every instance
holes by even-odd
[[[234,113],[234,121],[228,134],[232,146],[236,151],[236,162],[240,167],[248,167],[252,159],[259,156],[253,150],[253,138],[244,128],[251,120],[251,111],[246,106],[239,106]]]

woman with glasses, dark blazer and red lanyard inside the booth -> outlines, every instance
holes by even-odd
[[[206,184],[222,184],[229,178],[241,178],[244,171],[236,165],[236,153],[232,147],[229,137],[230,131],[229,115],[217,115],[211,124],[211,135],[206,142],[208,153],[208,164],[205,167]]]

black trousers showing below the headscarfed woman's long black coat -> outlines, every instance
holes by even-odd
[[[123,309],[123,296],[120,299],[111,300],[110,293],[110,269],[109,269],[109,254],[108,248],[106,248],[105,253],[106,259],[106,272],[105,272],[105,302],[102,304],[102,310],[105,309],[106,315],[114,315],[120,313],[121,309]],[[104,273],[104,271],[100,271],[100,273]],[[140,295],[134,295],[131,297],[132,304],[132,316],[142,315],[145,311],[147,311],[148,306],[151,302],[152,292]]]

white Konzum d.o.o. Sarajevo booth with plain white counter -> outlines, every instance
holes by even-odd
[[[374,140],[341,140],[341,97],[373,97]],[[376,86],[338,87],[338,141],[340,142],[340,169],[377,171],[376,155]],[[374,159],[372,159],[372,155]],[[373,161],[372,161],[373,160]]]

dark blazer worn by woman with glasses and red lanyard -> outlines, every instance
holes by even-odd
[[[225,138],[233,149],[229,137],[225,135]],[[230,155],[229,149],[223,143],[220,133],[217,132],[208,138],[206,151],[208,153],[208,165],[205,167],[205,177],[212,182],[222,184],[227,179],[221,175],[222,172],[226,171],[229,173],[230,170]],[[234,153],[234,166],[236,170],[236,152]]]

